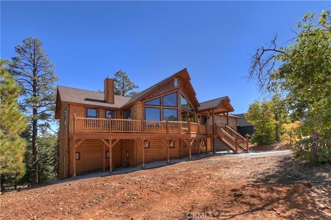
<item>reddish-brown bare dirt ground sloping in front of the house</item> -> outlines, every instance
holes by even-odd
[[[1,219],[331,219],[331,167],[206,157],[0,196]]]

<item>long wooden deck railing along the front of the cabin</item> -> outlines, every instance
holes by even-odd
[[[70,118],[70,133],[109,132],[109,133],[199,133],[206,134],[203,124],[177,121],[147,121],[107,118]]]

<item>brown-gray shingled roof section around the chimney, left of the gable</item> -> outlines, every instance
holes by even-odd
[[[58,86],[62,102],[74,102],[79,104],[91,104],[101,107],[120,108],[130,100],[130,97],[114,96],[114,104],[105,102],[103,92],[90,91],[86,89],[75,89]]]

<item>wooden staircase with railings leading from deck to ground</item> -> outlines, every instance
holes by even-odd
[[[234,153],[249,151],[248,139],[234,131],[230,126],[216,126],[216,137],[221,140]]]

